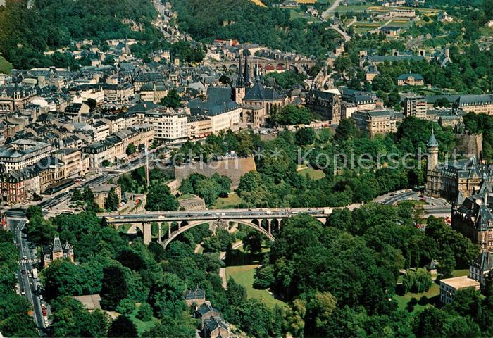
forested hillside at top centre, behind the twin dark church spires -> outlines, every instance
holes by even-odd
[[[285,51],[323,56],[337,44],[339,35],[325,30],[327,23],[308,25],[292,20],[289,11],[256,6],[249,0],[173,0],[180,29],[192,37],[239,39]]]

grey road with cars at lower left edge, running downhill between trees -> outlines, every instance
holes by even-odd
[[[13,218],[8,221],[8,224],[15,234],[15,242],[17,242],[19,248],[19,286],[24,290],[27,300],[32,305],[32,313],[37,327],[39,327],[40,330],[43,330],[45,325],[41,308],[41,301],[39,300],[39,296],[35,294],[35,290],[37,288],[37,285],[39,284],[39,281],[34,280],[29,275],[33,268],[33,264],[31,262],[37,261],[36,249],[30,249],[29,242],[27,242],[27,240],[23,238],[22,230],[25,227],[26,222],[26,219]],[[22,271],[25,271],[25,273],[22,273]]]

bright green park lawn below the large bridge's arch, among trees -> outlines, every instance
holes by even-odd
[[[254,275],[257,267],[258,265],[228,266],[226,268],[226,279],[232,277],[235,282],[242,284],[249,299],[260,299],[269,308],[273,308],[275,305],[286,306],[286,303],[275,299],[268,291],[254,289]]]

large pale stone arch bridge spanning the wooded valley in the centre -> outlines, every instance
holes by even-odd
[[[213,232],[218,228],[227,229],[231,223],[243,224],[264,234],[271,241],[280,230],[281,221],[299,213],[308,213],[325,223],[333,208],[280,208],[280,209],[227,209],[204,211],[166,211],[130,215],[104,213],[108,223],[119,227],[123,224],[136,225],[144,235],[144,243],[152,240],[151,223],[168,225],[167,233],[161,233],[158,227],[158,242],[165,248],[183,232],[201,224],[208,224]]]

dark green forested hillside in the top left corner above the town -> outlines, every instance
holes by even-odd
[[[151,25],[156,11],[149,0],[7,0],[0,6],[0,54],[15,68],[50,64],[48,49],[68,46],[73,39],[118,39],[125,36],[151,41],[158,32]],[[134,32],[122,23],[144,27]]]

